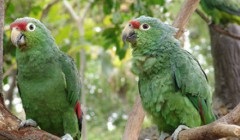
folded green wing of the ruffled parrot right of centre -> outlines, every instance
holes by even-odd
[[[171,60],[176,88],[181,90],[198,110],[202,123],[212,122],[211,94],[207,78],[198,61],[190,53],[181,50]]]

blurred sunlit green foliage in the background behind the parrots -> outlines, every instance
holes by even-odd
[[[24,112],[16,88],[15,47],[10,41],[9,25],[18,17],[40,19],[52,32],[59,48],[80,67],[80,50],[86,52],[84,87],[86,89],[87,137],[89,140],[120,139],[136,95],[137,77],[131,73],[131,49],[121,41],[121,30],[140,15],[159,18],[171,24],[183,0],[69,0],[78,13],[91,7],[84,16],[84,36],[61,0],[6,0],[4,33],[5,104],[18,117]],[[182,44],[203,66],[213,87],[213,67],[207,24],[194,14]],[[47,100],[47,99],[46,99]],[[143,127],[151,126],[146,118]]]

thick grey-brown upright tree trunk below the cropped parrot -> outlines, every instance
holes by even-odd
[[[227,30],[240,35],[240,26]],[[209,26],[215,70],[214,109],[222,116],[240,102],[240,40],[221,34]]]

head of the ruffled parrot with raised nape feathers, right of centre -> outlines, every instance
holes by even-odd
[[[141,16],[131,20],[122,32],[124,42],[132,44],[132,48],[150,47],[153,43],[174,38],[176,29],[161,22],[157,18]]]

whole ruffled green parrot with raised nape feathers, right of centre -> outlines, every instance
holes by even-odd
[[[175,33],[170,25],[146,16],[130,21],[122,32],[123,41],[132,46],[132,71],[139,76],[143,108],[161,138],[179,125],[196,127],[215,120],[207,77]]]

